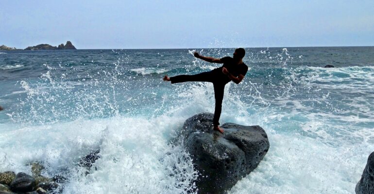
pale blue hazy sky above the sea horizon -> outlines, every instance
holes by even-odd
[[[0,45],[374,46],[374,0],[0,0]]]

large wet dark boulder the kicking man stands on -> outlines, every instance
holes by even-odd
[[[225,123],[224,133],[213,131],[213,114],[199,113],[188,118],[180,139],[199,172],[200,194],[223,194],[247,176],[269,150],[266,132],[259,126]]]

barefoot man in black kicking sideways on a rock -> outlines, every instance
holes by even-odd
[[[223,129],[219,127],[222,110],[223,92],[226,83],[234,81],[236,84],[240,83],[248,71],[248,66],[243,63],[245,50],[242,48],[236,49],[233,57],[223,57],[216,59],[213,57],[204,57],[199,53],[193,54],[196,58],[202,59],[210,63],[223,64],[220,68],[215,68],[212,71],[199,73],[196,75],[179,75],[175,77],[164,77],[164,81],[171,81],[171,83],[180,83],[185,81],[208,81],[213,83],[214,97],[216,99],[216,107],[213,117],[213,129],[223,133]]]

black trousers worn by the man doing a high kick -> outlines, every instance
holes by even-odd
[[[214,109],[213,125],[220,125],[218,122],[220,120],[222,111],[222,100],[223,92],[226,83],[218,80],[217,73],[213,71],[203,72],[195,75],[179,75],[175,77],[170,77],[171,83],[181,83],[186,81],[206,81],[212,82],[214,87],[214,98],[216,99],[216,107]]]

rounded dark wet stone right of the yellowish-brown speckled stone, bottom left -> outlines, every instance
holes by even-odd
[[[36,186],[35,179],[25,173],[18,173],[16,178],[10,183],[13,192],[30,192]]]

